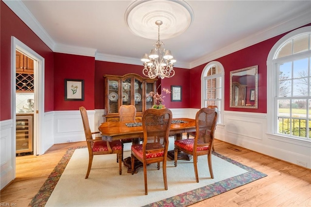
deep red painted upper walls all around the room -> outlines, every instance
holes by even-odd
[[[311,25],[311,24],[308,24]],[[95,61],[94,57],[53,53],[35,33],[21,21],[3,1],[0,1],[0,121],[11,119],[11,36],[16,37],[45,59],[45,112],[58,110],[104,109],[103,75],[136,73],[142,76],[142,65],[130,65]],[[287,33],[285,33],[287,34]],[[266,113],[267,66],[266,60],[273,45],[285,34],[262,41],[235,53],[215,59],[225,68],[225,107],[227,111]],[[188,69],[175,68],[172,78],[158,80],[161,88],[172,85],[182,87],[182,101],[171,102],[169,94],[164,99],[167,108],[201,107],[201,74],[207,63]],[[229,107],[230,71],[258,65],[259,103],[258,109]],[[85,100],[65,101],[65,78],[85,80]]]

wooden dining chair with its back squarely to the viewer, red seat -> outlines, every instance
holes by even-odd
[[[131,160],[132,174],[134,174],[135,158],[143,163],[146,195],[148,195],[147,165],[151,163],[157,163],[157,169],[160,169],[160,162],[162,162],[164,188],[168,189],[166,160],[171,123],[172,112],[167,108],[147,109],[142,114],[143,142],[142,144],[132,145]]]

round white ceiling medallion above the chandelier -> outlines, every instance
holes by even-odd
[[[161,20],[161,39],[185,32],[193,21],[193,11],[184,0],[136,0],[126,10],[125,22],[143,38],[157,39],[155,21]]]

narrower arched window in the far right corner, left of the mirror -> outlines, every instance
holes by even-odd
[[[223,124],[224,114],[224,66],[217,61],[208,63],[201,75],[201,107],[216,105],[218,107],[218,124]]]

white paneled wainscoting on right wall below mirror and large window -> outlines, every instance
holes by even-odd
[[[268,134],[265,113],[225,111],[224,118],[216,139],[311,169],[311,142]]]

